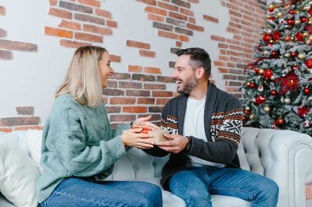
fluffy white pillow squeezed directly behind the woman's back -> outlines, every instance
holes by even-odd
[[[42,173],[42,167],[40,165],[41,158],[41,142],[42,142],[42,130],[27,130],[25,132],[28,148],[30,151],[31,159],[37,166],[39,173]]]

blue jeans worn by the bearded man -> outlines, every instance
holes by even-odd
[[[212,207],[210,195],[225,195],[251,201],[250,207],[276,207],[279,187],[271,179],[238,168],[192,167],[169,180],[173,194],[186,207]]]

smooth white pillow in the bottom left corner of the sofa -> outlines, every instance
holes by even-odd
[[[0,135],[0,191],[16,207],[37,207],[36,182],[40,174],[28,155]]]

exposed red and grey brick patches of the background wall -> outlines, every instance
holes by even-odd
[[[199,21],[219,23],[219,19],[209,13],[203,14],[202,19],[195,19],[196,11],[192,10],[192,4],[200,4],[200,0],[137,1],[146,4],[146,18],[155,28],[155,35],[173,41],[175,47],[170,48],[171,53],[183,48],[184,42],[191,41],[194,32],[208,30],[198,25]],[[113,19],[110,11],[100,8],[100,0],[49,0],[49,3],[48,15],[61,18],[61,22],[59,25],[46,25],[44,34],[58,37],[62,47],[78,48],[86,44],[99,44],[106,36],[113,35],[112,29],[118,29],[119,22]],[[233,38],[210,32],[210,38],[218,43],[219,52],[218,60],[213,61],[213,65],[222,75],[225,90],[242,98],[239,87],[245,80],[243,69],[252,62],[252,48],[260,38],[257,29],[265,26],[266,1],[221,0],[220,3],[228,9],[229,14],[225,15],[230,16],[230,21],[224,27],[233,34]],[[1,5],[0,15],[5,15],[5,8]],[[35,44],[6,40],[5,34],[5,29],[0,28],[0,60],[11,60],[14,50],[37,50]],[[138,49],[138,56],[155,59],[156,52],[151,50],[151,44],[152,39],[151,42],[126,41],[127,47]],[[122,57],[110,55],[113,62],[121,62]],[[168,65],[174,67],[174,62],[171,60]],[[215,75],[211,74],[212,82]],[[173,82],[171,77],[161,75],[160,69],[153,66],[129,65],[127,73],[115,73],[109,87],[103,89],[103,99],[112,126],[148,114],[152,114],[153,122],[159,124],[163,105],[177,95],[175,91],[166,89],[166,83],[170,82]],[[29,108],[16,107],[17,117],[0,117],[0,131],[42,128],[40,118],[33,117]]]

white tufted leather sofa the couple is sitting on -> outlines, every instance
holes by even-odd
[[[2,134],[30,156],[25,132]],[[310,136],[289,130],[243,128],[238,155],[243,169],[269,177],[278,184],[278,207],[306,207],[305,183],[312,181]],[[116,162],[113,174],[107,180],[141,180],[160,186],[161,168],[167,159],[167,156],[152,157],[132,148],[127,156]],[[180,198],[168,191],[162,193],[163,207],[185,207]],[[250,207],[250,202],[234,197],[212,195],[211,200],[213,207]],[[0,195],[0,207],[15,206]]]

